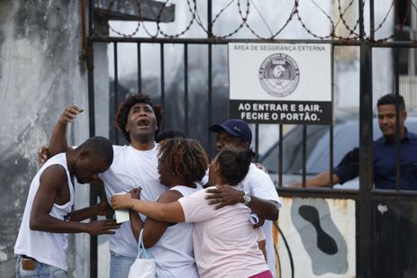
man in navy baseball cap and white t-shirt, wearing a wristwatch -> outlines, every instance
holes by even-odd
[[[252,141],[252,132],[248,123],[238,119],[231,119],[222,124],[213,124],[210,131],[216,132],[216,149],[220,151],[224,146],[247,149]],[[281,201],[269,175],[260,170],[255,164],[249,166],[249,172],[243,181],[233,186],[222,186],[207,190],[206,199],[209,204],[215,204],[214,209],[223,206],[244,203],[261,219],[265,219],[262,226],[267,241],[267,265],[274,277],[276,276],[276,258],[274,239],[272,237],[272,221],[278,219]],[[262,220],[260,221],[262,223]]]

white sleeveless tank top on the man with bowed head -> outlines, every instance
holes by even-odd
[[[72,205],[74,203],[74,185],[71,182],[71,177],[68,172],[66,153],[60,153],[54,157],[50,157],[32,180],[28,199],[24,207],[19,235],[17,236],[16,244],[14,245],[14,254],[30,256],[43,264],[52,265],[67,271],[67,234],[50,233],[29,228],[33,200],[41,185],[41,175],[46,168],[57,164],[63,166],[67,173],[69,201],[63,205],[54,203],[50,210],[50,216],[59,220],[64,220],[68,213],[72,211]]]

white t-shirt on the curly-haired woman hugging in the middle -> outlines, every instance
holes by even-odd
[[[188,196],[203,187],[191,188],[184,185],[171,187],[183,196]],[[177,223],[169,226],[159,241],[148,249],[155,259],[158,278],[186,277],[198,278],[193,247],[193,223]]]

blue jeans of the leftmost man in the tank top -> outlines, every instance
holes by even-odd
[[[17,257],[16,262],[16,278],[22,277],[39,277],[39,278],[68,278],[68,273],[58,267],[42,264],[35,261],[34,270],[23,270],[22,256]]]

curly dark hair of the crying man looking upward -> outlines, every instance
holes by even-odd
[[[162,106],[154,105],[150,101],[149,94],[131,94],[129,95],[126,100],[120,104],[119,109],[117,110],[114,118],[115,118],[115,125],[116,128],[122,131],[122,134],[125,139],[131,142],[131,137],[129,132],[126,130],[127,119],[129,117],[129,112],[131,112],[131,107],[136,103],[146,103],[152,107],[153,113],[155,114],[155,118],[157,119],[157,125],[159,127],[160,122],[162,121]],[[155,137],[158,136],[159,130],[155,131]]]

